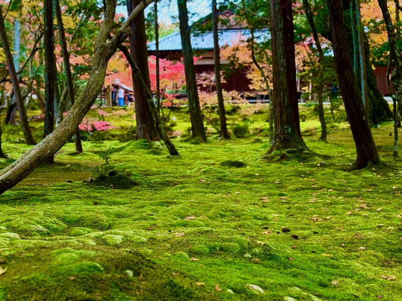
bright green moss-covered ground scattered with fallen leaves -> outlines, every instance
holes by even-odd
[[[229,118],[231,128],[247,119],[254,136],[178,137],[180,157],[143,140],[87,141],[79,155],[66,144],[0,195],[0,300],[400,300],[392,124],[373,128],[385,166],[353,171],[347,124],[318,142],[311,116],[305,141],[325,157],[267,163],[269,138],[255,136],[267,124],[254,113]],[[11,159],[0,168],[29,148],[15,131],[5,129]],[[107,149],[118,174],[83,183]]]

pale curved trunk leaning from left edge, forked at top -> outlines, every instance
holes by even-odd
[[[68,141],[102,91],[110,58],[116,52],[118,45],[130,36],[131,24],[139,13],[152,3],[152,0],[141,2],[130,14],[127,21],[114,32],[113,38],[108,41],[114,25],[116,2],[116,0],[109,0],[107,2],[104,20],[95,41],[95,54],[92,59],[91,73],[82,93],[64,120],[50,135],[44,138],[38,145],[31,148],[16,162],[0,171],[0,194],[21,182],[40,163],[54,155]]]

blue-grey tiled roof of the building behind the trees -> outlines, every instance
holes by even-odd
[[[220,30],[219,35],[219,45],[222,46],[233,46],[233,43],[239,40],[246,41],[250,38],[249,29],[234,29],[234,30]],[[257,42],[262,42],[270,39],[270,34],[268,29],[265,30],[255,30],[254,37]],[[202,34],[191,33],[191,47],[193,50],[212,50],[214,49],[214,38],[212,32],[206,32]],[[155,42],[148,43],[148,50],[155,51]],[[181,50],[181,38],[180,33],[174,33],[163,37],[159,40],[159,50],[160,51],[173,51]]]

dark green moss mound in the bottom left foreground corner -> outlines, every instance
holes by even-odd
[[[17,260],[17,261],[16,261]],[[2,300],[197,299],[181,277],[139,253],[93,248],[37,250],[6,259]],[[41,262],[50,262],[44,267]],[[198,296],[198,297],[197,297]]]

